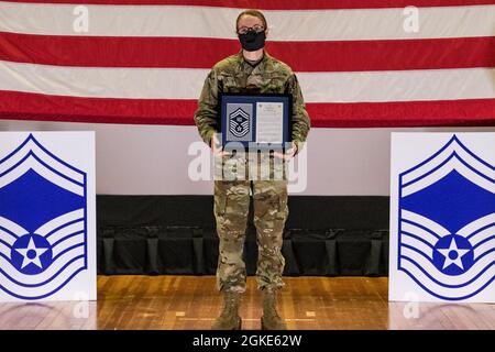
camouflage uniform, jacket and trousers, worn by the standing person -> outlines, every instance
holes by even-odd
[[[195,122],[201,139],[210,145],[211,136],[218,132],[219,92],[261,92],[293,95],[293,141],[300,151],[310,129],[310,120],[305,109],[301,90],[289,66],[273,58],[266,52],[253,67],[242,55],[229,56],[213,66],[206,78]],[[246,154],[248,155],[248,154]],[[243,163],[263,163],[273,155],[261,155],[260,161],[245,156]],[[228,156],[222,157],[223,160]],[[283,163],[285,170],[285,163]],[[249,167],[245,168],[246,170]],[[254,199],[254,224],[257,232],[258,260],[256,279],[260,289],[279,288],[284,285],[282,274],[285,260],[282,241],[288,216],[287,178],[274,179],[276,167],[270,168],[271,179],[215,180],[215,216],[220,240],[217,284],[220,290],[245,292],[245,264],[242,260],[250,189]],[[258,169],[258,174],[261,170]],[[239,175],[238,170],[238,175]],[[234,170],[235,175],[235,170]]]

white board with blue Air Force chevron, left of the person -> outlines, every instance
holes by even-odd
[[[0,132],[0,301],[95,300],[94,132]]]

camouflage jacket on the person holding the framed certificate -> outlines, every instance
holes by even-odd
[[[299,82],[289,66],[272,57],[266,51],[254,67],[244,59],[242,50],[217,63],[205,80],[195,113],[199,134],[208,145],[213,133],[219,132],[219,92],[292,94],[292,139],[297,144],[298,152],[302,148],[310,120]]]

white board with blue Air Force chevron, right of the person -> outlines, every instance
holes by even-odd
[[[495,133],[393,133],[389,300],[495,302]]]

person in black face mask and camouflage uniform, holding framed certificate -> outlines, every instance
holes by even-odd
[[[195,122],[201,139],[211,146],[215,155],[226,158],[217,136],[219,124],[219,92],[261,92],[293,95],[293,146],[286,154],[275,156],[286,164],[304,146],[310,129],[302,94],[296,75],[289,66],[264,51],[268,33],[265,16],[257,10],[239,14],[237,33],[242,50],[217,63],[206,78]],[[261,156],[261,163],[274,156]],[[250,160],[251,161],[251,160]],[[248,158],[245,160],[248,165]],[[275,178],[274,168],[270,168]],[[241,179],[239,179],[241,178]],[[256,270],[257,287],[263,293],[263,329],[286,329],[279,317],[277,293],[284,286],[282,274],[285,260],[282,241],[287,208],[287,178],[282,179],[235,179],[215,180],[215,217],[219,237],[219,261],[217,268],[218,289],[223,294],[223,310],[212,329],[240,329],[239,306],[245,292],[245,263],[242,260],[246,221],[250,205],[250,189],[254,199],[254,224],[257,233],[258,258]]]

